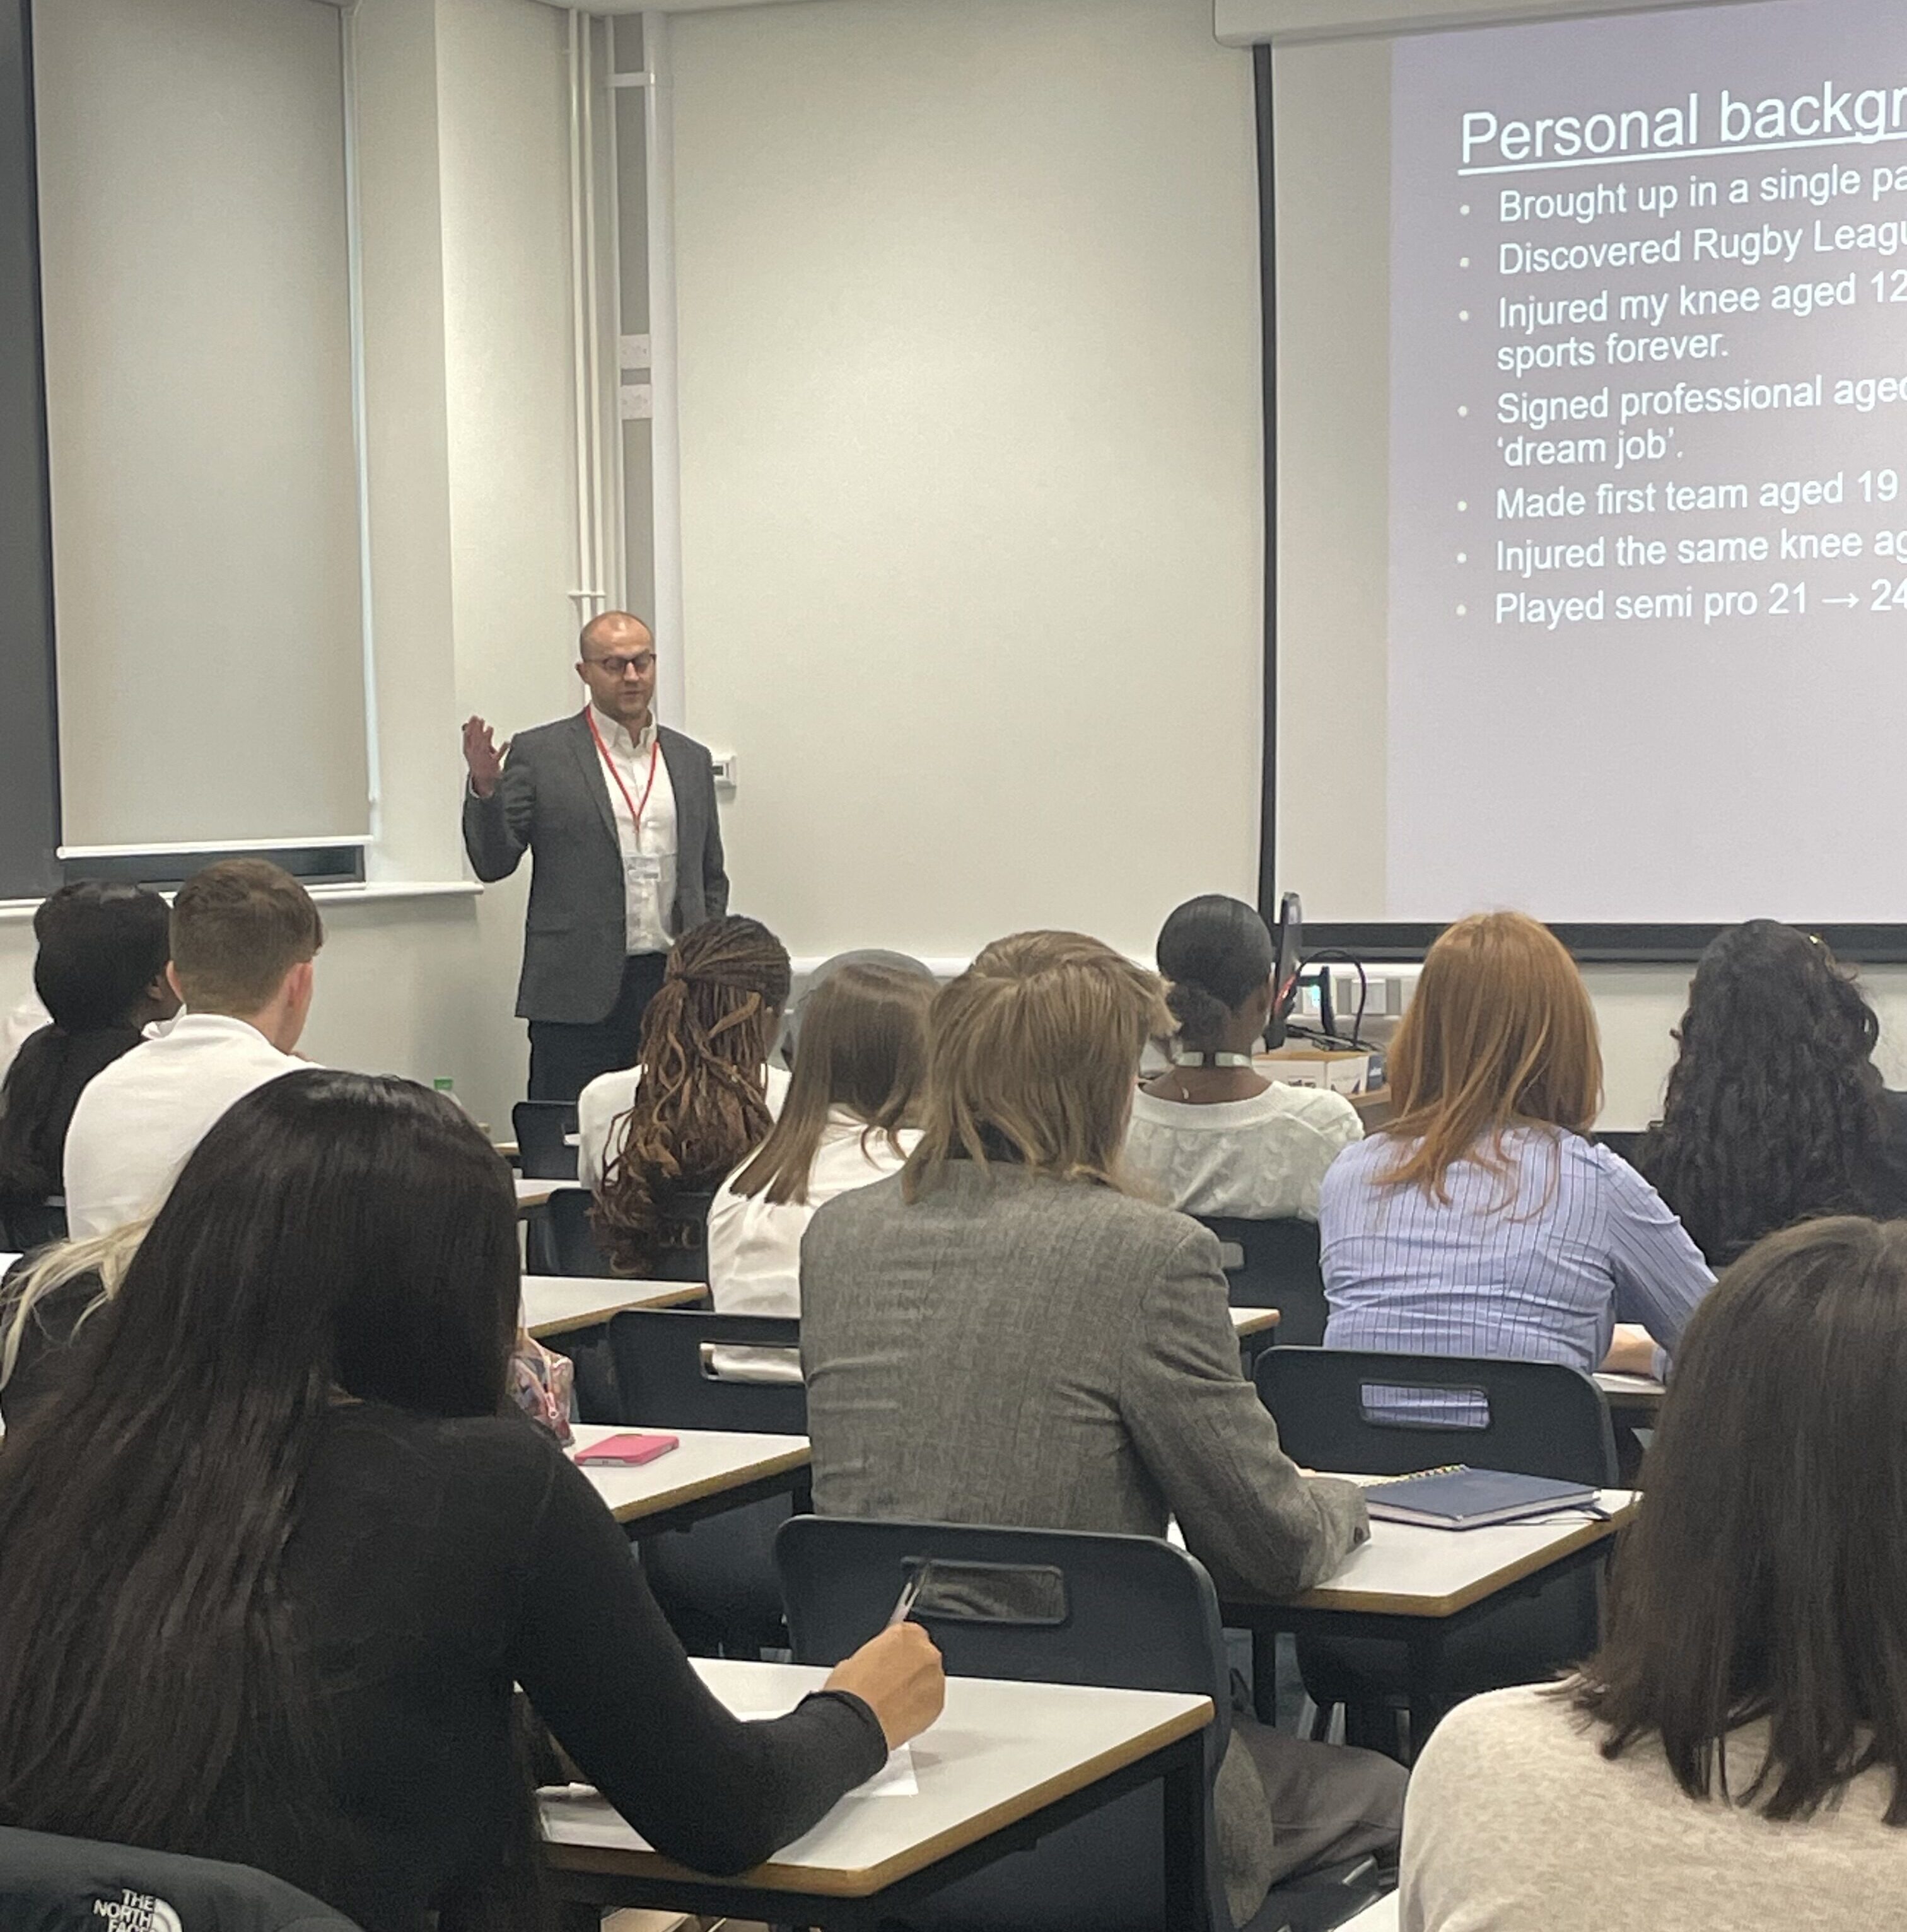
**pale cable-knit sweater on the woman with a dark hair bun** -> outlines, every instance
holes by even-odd
[[[1210,1107],[1132,1095],[1126,1171],[1181,1213],[1244,1221],[1318,1219],[1331,1161],[1364,1138],[1343,1094],[1271,1082],[1252,1099]]]

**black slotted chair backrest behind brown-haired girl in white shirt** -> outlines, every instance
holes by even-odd
[[[707,1350],[719,1343],[800,1349],[802,1325],[779,1316],[707,1316],[694,1308],[626,1308],[614,1316],[609,1349],[616,1360],[622,1422],[806,1435],[808,1389],[798,1381],[715,1376]]]

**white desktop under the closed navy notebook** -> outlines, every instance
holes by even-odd
[[[1426,1530],[1372,1522],[1370,1542],[1327,1582],[1293,1598],[1293,1609],[1385,1617],[1455,1617],[1563,1557],[1611,1538],[1637,1511],[1635,1490],[1604,1490],[1609,1520],[1584,1515],[1494,1522],[1482,1530]]]

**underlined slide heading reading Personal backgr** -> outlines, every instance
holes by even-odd
[[[1884,141],[1907,128],[1907,87],[1837,87],[1743,100],[1725,87],[1675,106],[1609,108],[1598,114],[1542,114],[1501,120],[1488,108],[1463,116],[1461,168],[1488,174],[1544,162],[1590,162],[1615,155],[1727,153],[1747,147]]]

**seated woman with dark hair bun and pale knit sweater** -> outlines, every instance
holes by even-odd
[[[1325,1169],[1364,1122],[1341,1094],[1283,1086],[1252,1065],[1277,972],[1266,922],[1221,893],[1186,900],[1157,958],[1179,1037],[1173,1065],[1132,1101],[1128,1175],[1181,1213],[1316,1221]]]

